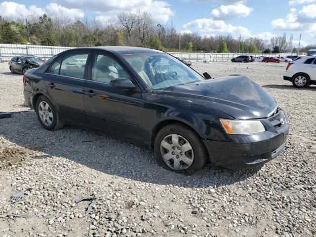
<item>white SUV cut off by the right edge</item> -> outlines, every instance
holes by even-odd
[[[287,65],[283,79],[292,81],[296,88],[316,84],[316,55],[297,57]]]

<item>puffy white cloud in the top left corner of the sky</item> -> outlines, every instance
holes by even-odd
[[[84,13],[82,10],[76,8],[66,8],[57,3],[51,2],[47,4],[44,8],[31,5],[27,8],[24,4],[19,4],[13,1],[3,1],[0,3],[0,9],[2,17],[7,17],[9,19],[24,18],[33,13],[37,15],[43,15],[47,13],[49,15],[53,14],[63,14],[64,16],[69,17],[74,20],[77,17],[83,17]]]

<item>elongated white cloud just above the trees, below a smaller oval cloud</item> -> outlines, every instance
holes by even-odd
[[[243,26],[233,26],[231,24],[226,24],[222,20],[214,20],[210,18],[196,19],[184,24],[182,27],[199,32],[228,33],[232,35],[241,34],[244,37],[251,36],[250,31]]]

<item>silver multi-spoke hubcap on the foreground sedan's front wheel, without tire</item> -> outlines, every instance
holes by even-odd
[[[193,148],[183,136],[169,134],[160,143],[163,161],[174,170],[189,168],[194,160]]]

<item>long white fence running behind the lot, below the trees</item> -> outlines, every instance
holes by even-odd
[[[50,58],[62,51],[71,49],[72,47],[60,47],[60,46],[43,46],[43,45],[25,45],[25,44],[0,44],[0,62],[9,61],[12,57],[17,55],[37,55],[41,58]],[[175,57],[180,59],[185,58],[192,62],[223,62],[230,61],[232,58],[237,57],[237,53],[179,53],[170,52]],[[242,54],[252,56],[269,56],[278,57],[296,55],[296,53],[279,53],[279,54]]]

